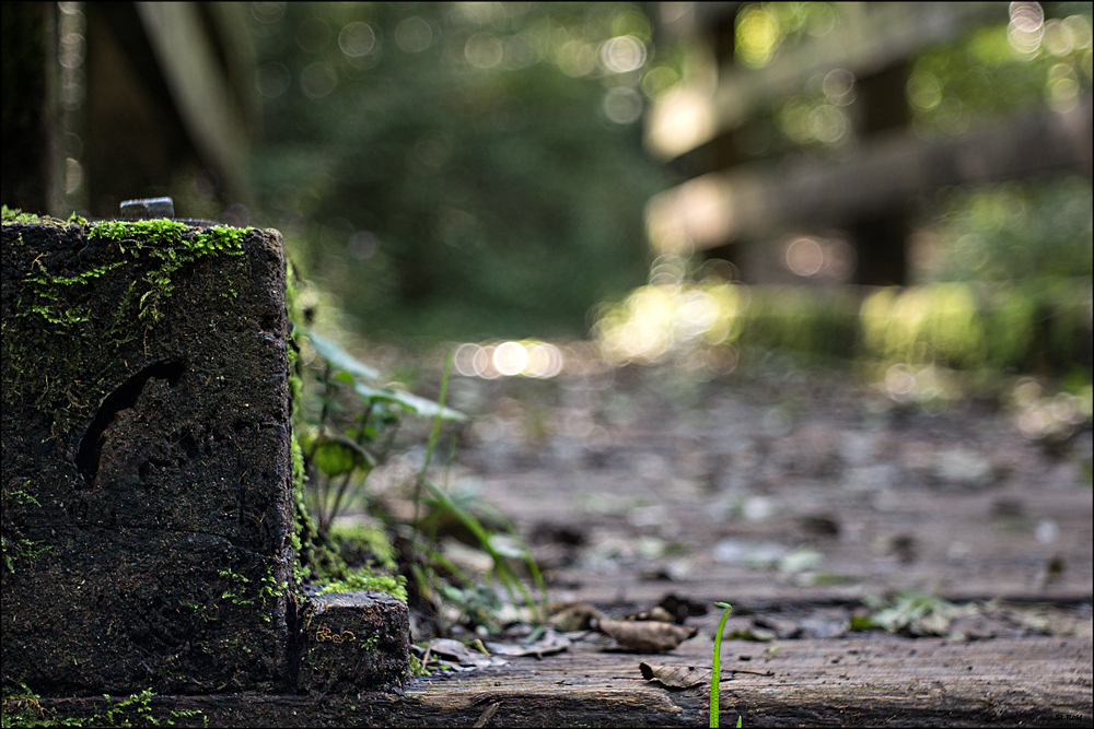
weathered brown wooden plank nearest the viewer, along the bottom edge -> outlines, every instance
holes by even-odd
[[[175,726],[453,727],[491,710],[485,726],[706,726],[709,686],[671,691],[638,665],[709,667],[711,649],[705,633],[670,656],[577,644],[542,660],[419,679],[404,696],[159,696],[150,707]],[[733,726],[741,715],[749,727],[1090,726],[1091,660],[1091,642],[1078,638],[784,640],[776,651],[728,640],[721,717]],[[101,697],[40,705],[67,716],[106,708]]]

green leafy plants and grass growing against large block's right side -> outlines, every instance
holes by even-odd
[[[299,466],[294,468],[299,468],[304,484],[298,498],[298,580],[324,585],[324,592],[373,589],[407,600],[407,577],[385,574],[406,567],[404,572],[414,579],[417,595],[454,604],[468,621],[492,631],[498,627],[492,615],[501,608],[492,587],[476,584],[437,549],[432,527],[446,521],[474,534],[491,557],[487,581],[501,584],[513,603],[523,601],[535,620],[545,624],[546,584],[512,525],[500,517],[492,525],[494,529],[486,527],[466,503],[428,475],[442,426],[466,420],[463,413],[445,405],[451,355],[437,401],[391,386],[377,387],[381,375],[376,369],[312,329],[314,309],[300,310],[296,293],[298,285],[303,290],[306,284],[293,281],[294,274],[291,270],[289,310],[294,333],[306,339],[315,353],[307,364],[304,356],[291,354],[296,373],[293,397],[299,402],[294,416],[294,461]],[[366,484],[372,471],[388,457],[408,415],[431,419],[432,425],[423,462],[412,482],[414,517],[409,525],[400,525],[381,504],[370,501]],[[349,526],[345,520],[336,524],[351,506],[364,507],[379,517],[384,528]],[[430,509],[426,516],[423,506]],[[398,551],[393,548],[393,533],[400,540]],[[397,564],[396,556],[408,564]],[[536,604],[514,571],[513,564],[521,563],[527,566],[543,605]],[[486,597],[487,592],[492,599]]]

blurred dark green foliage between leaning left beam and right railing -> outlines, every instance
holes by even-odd
[[[255,13],[263,207],[375,337],[575,334],[644,273],[629,3],[290,3]],[[660,60],[660,59],[659,59]],[[587,67],[586,67],[587,61]]]

